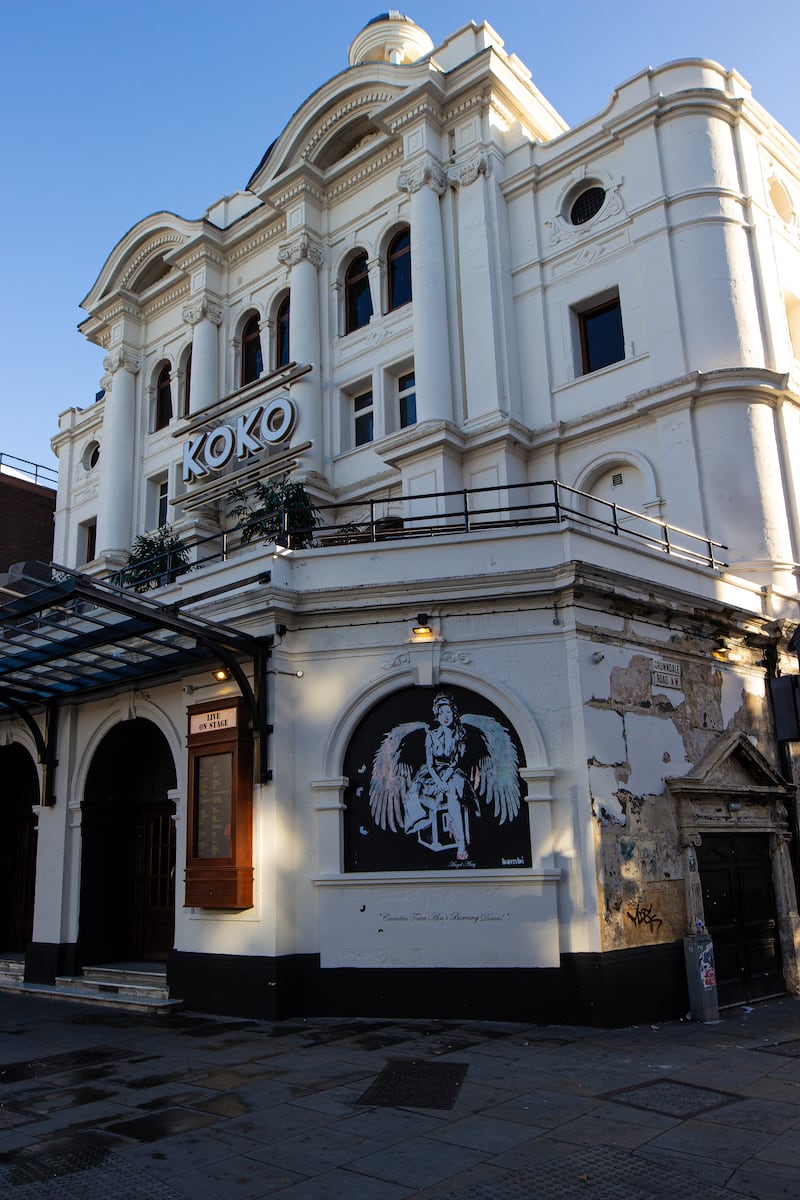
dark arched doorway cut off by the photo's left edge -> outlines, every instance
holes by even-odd
[[[34,935],[38,775],[20,745],[0,750],[0,952],[22,954]]]

